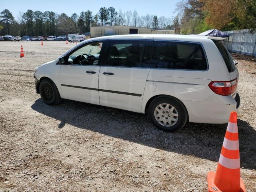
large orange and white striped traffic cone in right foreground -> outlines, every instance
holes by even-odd
[[[237,114],[231,112],[216,173],[208,172],[208,192],[246,192],[240,178]]]

